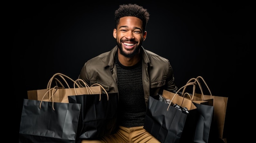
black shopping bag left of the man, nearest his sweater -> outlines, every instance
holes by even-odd
[[[93,84],[92,86],[101,86]],[[96,139],[110,135],[117,128],[118,93],[68,96],[70,103],[81,104],[79,138]]]

